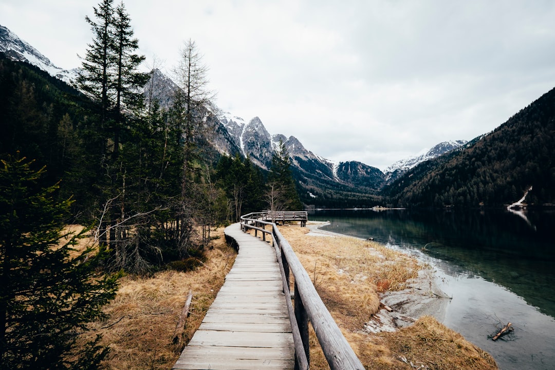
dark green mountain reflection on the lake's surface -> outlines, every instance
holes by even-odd
[[[314,213],[331,221],[328,230],[401,247],[421,249],[455,264],[458,273],[479,275],[523,297],[555,317],[555,212],[506,210]],[[394,241],[394,242],[393,242]]]

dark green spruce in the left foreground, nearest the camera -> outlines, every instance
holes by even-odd
[[[69,257],[83,234],[61,241],[71,201],[39,185],[43,173],[24,158],[0,166],[0,369],[94,369],[107,348],[97,338],[77,351],[77,342],[117,277],[97,275],[90,249]]]

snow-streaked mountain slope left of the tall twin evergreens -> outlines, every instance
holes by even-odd
[[[0,25],[0,52],[17,62],[27,62],[48,72],[51,76],[73,85],[77,80],[78,69],[63,69],[56,67],[50,59],[33,48],[29,43],[20,39],[8,28]]]

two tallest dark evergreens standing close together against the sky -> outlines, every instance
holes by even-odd
[[[100,124],[95,134],[101,138],[96,184],[100,193],[97,235],[100,245],[115,255],[115,261],[121,262],[112,266],[117,270],[138,263],[137,260],[129,261],[127,252],[122,250],[122,241],[128,240],[126,217],[134,214],[126,204],[128,188],[132,186],[127,168],[129,158],[120,159],[120,153],[125,141],[132,136],[132,126],[138,124],[136,118],[143,108],[140,88],[149,76],[138,72],[145,58],[136,53],[138,40],[133,38],[130,17],[123,2],[114,9],[113,0],[102,0],[98,8],[94,8],[94,14],[96,22],[86,18],[92,27],[93,42],[89,44],[83,60],[84,72],[78,82],[101,105]],[[134,115],[124,114],[124,108]]]

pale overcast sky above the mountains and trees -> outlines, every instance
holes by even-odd
[[[1,0],[0,24],[79,67],[98,2]],[[551,0],[124,3],[148,65],[171,72],[193,39],[221,109],[381,170],[487,133],[555,87]]]

